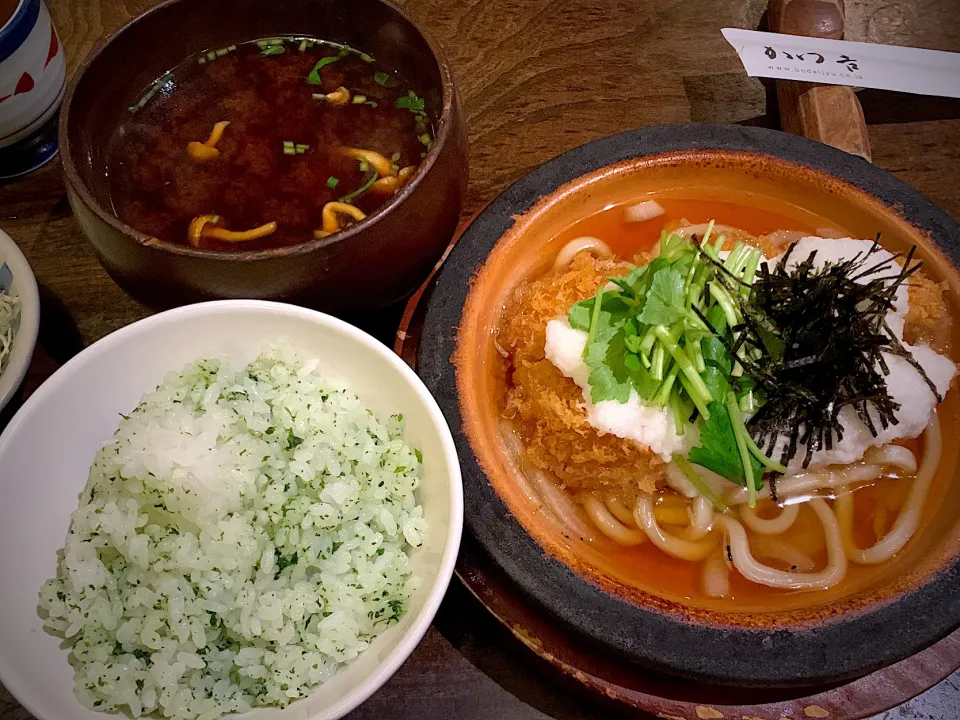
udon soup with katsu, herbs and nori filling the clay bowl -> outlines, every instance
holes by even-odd
[[[912,251],[843,235],[657,199],[551,242],[497,330],[501,435],[589,562],[751,611],[908,551],[949,482],[951,320]]]

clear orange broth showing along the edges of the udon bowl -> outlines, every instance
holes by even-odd
[[[646,199],[650,198],[638,198],[636,202]],[[628,223],[624,219],[624,210],[633,203],[611,206],[563,230],[550,240],[548,247],[555,253],[566,242],[583,235],[591,235],[607,243],[618,257],[633,258],[637,253],[653,248],[665,225],[680,220],[691,224],[714,220],[717,224],[740,228],[753,235],[767,234],[775,230],[799,230],[814,235],[822,228],[845,232],[829,220],[792,205],[772,205],[774,201],[766,198],[750,198],[748,202],[752,204],[749,205],[718,199],[669,197],[669,194],[665,197],[658,195],[655,199],[666,211],[657,218]],[[952,299],[950,304],[952,305]],[[951,333],[954,337],[953,346],[956,347],[956,324],[952,326]],[[938,410],[944,424],[945,438],[950,437],[951,424],[956,425],[957,408],[957,391],[953,390]],[[922,457],[922,437],[905,440],[902,444],[916,454],[919,462]],[[850,563],[846,577],[829,590],[792,591],[771,588],[747,581],[732,569],[730,597],[711,598],[702,591],[700,562],[676,559],[649,541],[635,547],[624,547],[607,540],[599,532],[592,541],[581,541],[566,534],[565,537],[577,555],[604,575],[625,585],[683,604],[728,612],[782,611],[810,607],[811,604],[825,605],[889,580],[900,568],[917,561],[924,551],[924,546],[929,544],[932,534],[929,527],[935,524],[932,521],[937,516],[937,509],[951,494],[951,481],[957,465],[956,455],[956,450],[951,450],[950,443],[945,442],[943,457],[925,503],[920,529],[906,547],[893,559],[879,565]],[[911,482],[912,477],[883,477],[855,491],[854,536],[859,547],[873,545],[890,529],[908,497]],[[673,494],[672,490],[661,492],[661,495]],[[876,518],[877,508],[882,508],[880,519]],[[578,506],[577,512],[584,523],[592,527],[582,508]],[[771,500],[765,499],[758,503],[758,512],[763,517],[772,517],[778,511]],[[664,525],[664,529],[671,532],[676,531],[677,527]],[[748,530],[748,536],[752,543],[756,535]],[[811,557],[816,563],[815,570],[826,564],[823,526],[809,505],[804,504],[801,507],[796,522],[788,531],[773,537]],[[762,561],[779,569],[791,569],[769,558],[763,558]]]

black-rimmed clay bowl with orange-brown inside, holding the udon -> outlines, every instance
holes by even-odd
[[[833,237],[880,233],[893,252],[916,246],[946,313],[960,312],[957,223],[859,158],[783,133],[711,125],[649,128],[567,152],[472,222],[429,296],[417,368],[454,429],[470,531],[544,613],[626,662],[671,674],[812,686],[862,676],[944,637],[960,625],[956,388],[939,407],[943,450],[919,528],[886,563],[851,564],[833,590],[705,600],[685,590],[675,564],[647,563],[638,574],[632,556],[611,555],[602,536],[577,537],[558,509],[562,491],[531,480],[505,418],[505,307],[583,228],[603,234],[585,218],[647,198],[687,203],[701,221],[733,224],[742,213],[758,233],[773,222]],[[764,213],[777,218],[766,230],[758,229]],[[956,362],[955,323],[949,335]]]

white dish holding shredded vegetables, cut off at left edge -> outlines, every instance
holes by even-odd
[[[0,410],[10,402],[26,377],[40,332],[40,295],[30,264],[13,239],[0,230],[0,268],[6,264],[13,275],[9,292],[20,298],[20,328],[13,338],[13,350],[0,371]]]

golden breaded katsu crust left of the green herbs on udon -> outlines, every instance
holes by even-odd
[[[499,328],[497,340],[507,354],[505,414],[515,417],[530,462],[571,490],[630,497],[663,482],[663,460],[631,440],[598,433],[587,422],[580,388],[544,357],[547,323],[631,267],[582,252],[568,268],[521,285]]]

